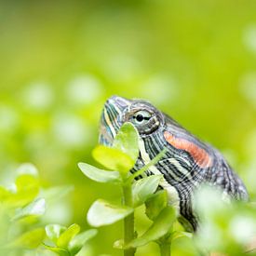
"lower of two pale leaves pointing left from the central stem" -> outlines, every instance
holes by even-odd
[[[124,219],[132,212],[131,208],[116,206],[99,199],[88,210],[88,223],[95,227],[109,225]]]

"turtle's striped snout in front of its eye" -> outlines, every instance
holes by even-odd
[[[101,113],[99,142],[105,146],[112,146],[115,135],[123,124],[123,113],[131,101],[113,96],[109,98]]]

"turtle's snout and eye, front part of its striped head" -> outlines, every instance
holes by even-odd
[[[132,123],[140,136],[145,137],[164,123],[164,116],[148,101],[113,96],[105,102],[102,110],[100,143],[112,145],[119,128],[126,122]]]

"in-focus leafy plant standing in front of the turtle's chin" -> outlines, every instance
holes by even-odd
[[[78,164],[89,179],[95,182],[117,183],[123,191],[119,205],[103,199],[96,200],[88,210],[88,222],[99,227],[124,220],[124,239],[114,244],[115,248],[124,249],[124,255],[134,255],[138,247],[152,241],[159,244],[161,255],[169,255],[171,239],[174,237],[172,225],[176,221],[176,211],[168,205],[166,191],[157,191],[163,177],[153,175],[135,181],[135,178],[155,165],[165,152],[156,155],[149,164],[131,174],[129,170],[133,168],[139,155],[138,142],[136,128],[127,123],[115,136],[113,147],[99,145],[93,151],[94,158],[107,169],[95,168],[86,163]],[[137,236],[134,231],[134,211],[142,204],[145,204],[146,215],[152,225],[141,236]]]

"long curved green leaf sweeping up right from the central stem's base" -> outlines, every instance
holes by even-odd
[[[176,220],[175,209],[167,207],[163,209],[155,219],[155,222],[140,237],[132,240],[125,248],[137,248],[146,245],[151,241],[156,241],[162,236],[168,234],[173,222]]]

